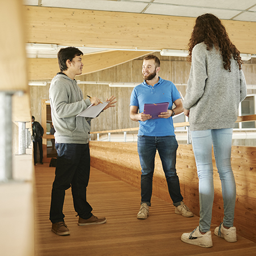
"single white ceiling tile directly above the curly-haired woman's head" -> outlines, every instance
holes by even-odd
[[[233,16],[240,14],[240,11],[233,10],[221,10],[221,9],[208,9],[208,8],[197,8],[184,6],[166,6],[164,10],[162,7],[153,7],[152,5],[144,12],[147,14],[162,14],[171,16],[186,16],[186,17],[197,17],[205,13],[212,13],[220,19],[230,19]]]

